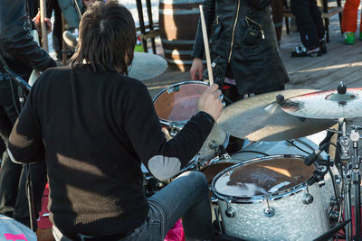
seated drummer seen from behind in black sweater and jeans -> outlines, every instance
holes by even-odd
[[[127,77],[136,28],[116,1],[83,14],[71,67],[46,70],[14,125],[14,162],[46,162],[56,240],[163,240],[183,218],[186,238],[211,238],[205,175],[187,171],[146,198],[141,162],[157,179],[195,156],[223,104],[214,85],[167,141],[146,86]]]

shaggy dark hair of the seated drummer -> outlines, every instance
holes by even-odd
[[[96,2],[81,17],[80,40],[71,66],[87,63],[93,70],[128,74],[135,44],[135,22],[129,10],[113,0]]]

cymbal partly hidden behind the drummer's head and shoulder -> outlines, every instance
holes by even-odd
[[[129,77],[138,80],[152,79],[167,70],[167,61],[148,52],[134,52],[132,64],[129,66]]]

